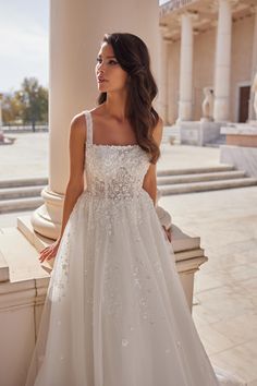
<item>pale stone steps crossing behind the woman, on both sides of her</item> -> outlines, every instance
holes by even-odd
[[[47,178],[0,181],[0,214],[36,209],[44,203],[40,193],[47,184]],[[253,186],[257,185],[257,179],[233,166],[219,165],[159,170],[157,185],[162,195],[171,195]]]

